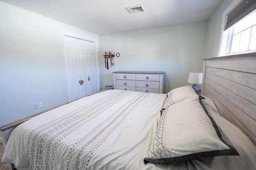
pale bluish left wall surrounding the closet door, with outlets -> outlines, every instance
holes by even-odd
[[[97,34],[0,2],[0,126],[68,102],[62,31],[98,41]]]

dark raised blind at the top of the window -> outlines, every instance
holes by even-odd
[[[241,0],[227,15],[224,30],[256,9],[256,0]]]

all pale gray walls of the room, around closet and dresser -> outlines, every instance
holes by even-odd
[[[216,57],[222,13],[231,2],[224,0],[208,22],[104,35],[0,2],[0,126],[68,102],[62,31],[100,40],[101,88],[113,84],[113,71],[165,71],[167,93],[191,85],[189,72],[202,72],[202,59]],[[108,50],[121,55],[106,70]],[[44,107],[34,110],[41,101]]]

